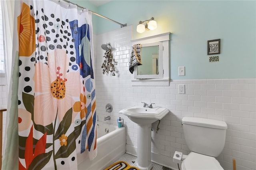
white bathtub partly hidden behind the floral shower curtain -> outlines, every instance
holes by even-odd
[[[104,122],[97,122],[97,156],[93,160],[78,156],[78,170],[103,170],[126,151],[125,127],[118,128]]]

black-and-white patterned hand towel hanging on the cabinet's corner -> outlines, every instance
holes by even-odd
[[[130,57],[130,62],[129,62],[129,71],[131,73],[134,72],[134,65],[142,65],[141,63],[141,58],[140,58],[140,44],[134,44],[132,46],[132,54]]]

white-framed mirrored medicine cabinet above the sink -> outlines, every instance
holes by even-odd
[[[169,86],[169,41],[170,32],[132,40],[132,45],[141,44],[142,65],[134,67],[132,86]]]

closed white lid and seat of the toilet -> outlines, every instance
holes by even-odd
[[[224,170],[212,156],[190,152],[181,164],[182,170]]]

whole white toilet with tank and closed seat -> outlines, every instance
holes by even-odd
[[[215,157],[222,152],[227,124],[196,117],[182,119],[184,138],[191,150],[181,164],[182,170],[223,170]]]

